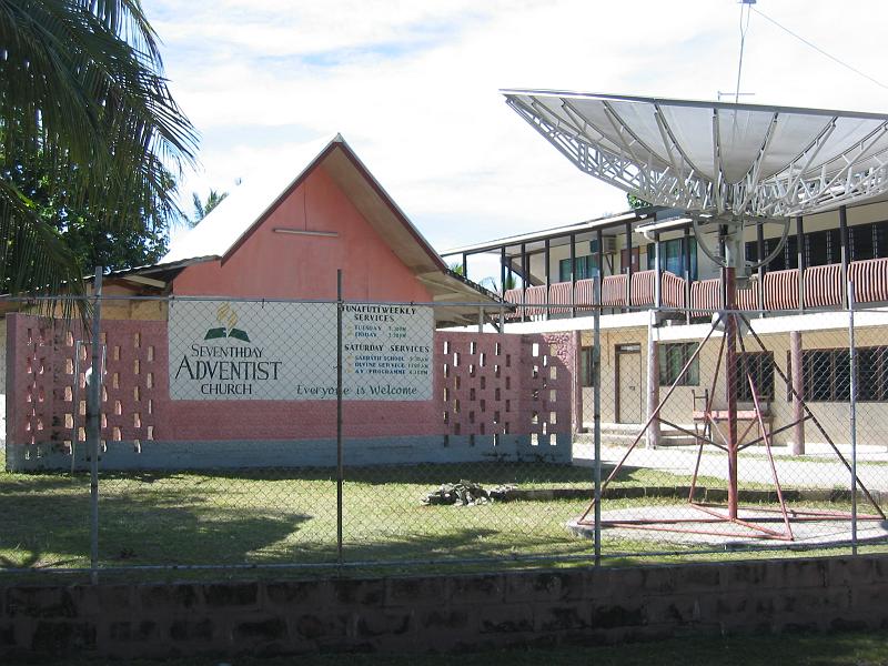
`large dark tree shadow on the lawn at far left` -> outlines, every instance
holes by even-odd
[[[59,487],[38,477],[3,487],[0,566],[77,567],[90,559],[89,486]],[[99,502],[100,559],[121,564],[231,564],[290,537],[312,519],[274,502],[220,506],[198,487],[128,487]],[[49,486],[49,487],[48,487]],[[2,485],[0,484],[0,487]]]

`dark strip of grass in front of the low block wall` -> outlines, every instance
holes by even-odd
[[[59,666],[124,664],[109,659],[53,659],[52,663]],[[785,634],[684,637],[618,646],[513,648],[447,655],[188,657],[125,662],[128,666],[216,666],[221,663],[231,666],[879,666],[888,665],[888,637],[885,633]]]

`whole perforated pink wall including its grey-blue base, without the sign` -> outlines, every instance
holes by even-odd
[[[7,316],[7,468],[89,467],[77,322]],[[335,401],[172,401],[164,321],[103,320],[103,470],[335,465]],[[434,333],[433,400],[346,401],[349,464],[571,462],[578,335]]]

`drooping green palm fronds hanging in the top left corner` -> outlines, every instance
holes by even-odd
[[[59,231],[16,173],[29,164],[109,230],[178,213],[196,133],[173,101],[139,0],[0,0],[0,281],[82,290]]]

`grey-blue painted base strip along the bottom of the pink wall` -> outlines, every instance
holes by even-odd
[[[75,468],[89,470],[87,447],[74,451]],[[437,435],[380,437],[343,442],[346,465],[471,463],[526,461],[571,463],[571,436]],[[244,470],[262,467],[330,467],[336,464],[335,440],[107,442],[100,470]],[[7,470],[70,470],[71,455],[61,445],[7,447]]]

